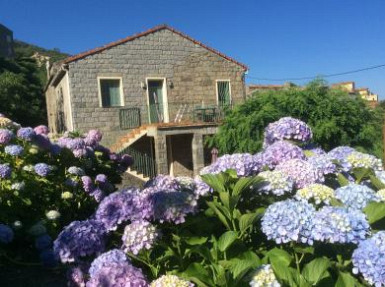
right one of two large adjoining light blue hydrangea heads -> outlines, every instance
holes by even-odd
[[[314,216],[314,240],[330,243],[358,243],[370,233],[365,214],[344,207],[325,206]]]

